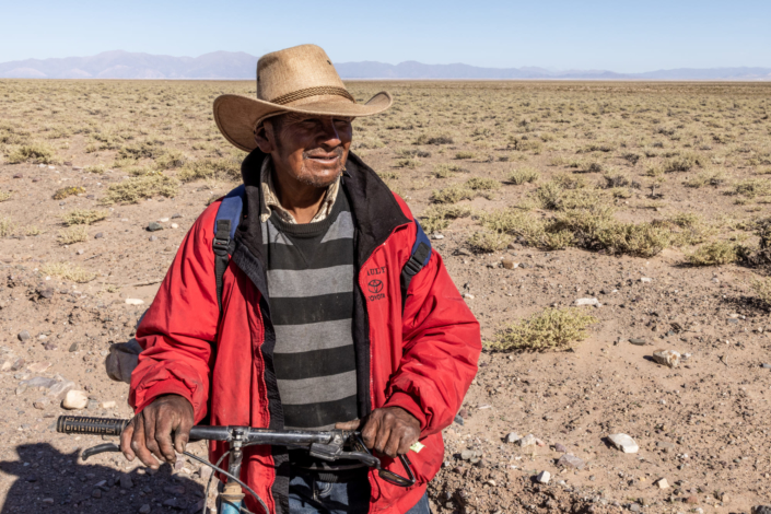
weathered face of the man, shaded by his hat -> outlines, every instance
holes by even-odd
[[[318,188],[342,173],[353,135],[351,118],[285,114],[265,125],[277,172]]]

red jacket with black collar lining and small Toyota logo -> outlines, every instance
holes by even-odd
[[[196,422],[209,414],[211,424],[283,428],[259,224],[264,157],[257,150],[243,164],[244,215],[224,274],[222,318],[212,250],[219,207],[214,202],[186,235],[137,330],[144,349],[131,376],[129,401],[137,412],[160,395],[177,394],[192,404]],[[425,445],[419,454],[410,453],[417,478],[411,488],[389,484],[370,472],[370,512],[404,513],[418,502],[442,465],[441,431],[453,421],[477,372],[479,324],[436,252],[412,279],[402,314],[399,280],[416,241],[412,214],[353,154],[342,191],[357,226],[353,339],[359,413],[401,407],[420,421],[420,441]],[[219,458],[223,449],[223,443],[212,443],[210,459]],[[385,458],[384,465],[404,471],[398,462]],[[246,448],[242,479],[271,512],[289,512],[284,447]],[[246,506],[259,512],[248,494]]]

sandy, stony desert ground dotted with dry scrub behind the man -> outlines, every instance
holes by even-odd
[[[348,85],[394,94],[354,121],[352,149],[419,215],[482,327],[434,512],[771,503],[771,84]],[[55,422],[130,417],[105,359],[240,180],[244,153],[212,120],[222,93],[254,83],[0,81],[1,513],[212,505],[197,463],[84,463],[103,441]],[[65,389],[86,408],[66,410]]]

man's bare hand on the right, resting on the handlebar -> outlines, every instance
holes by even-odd
[[[353,420],[335,424],[338,430],[357,430],[361,421]],[[364,418],[361,436],[367,448],[392,458],[409,452],[420,437],[420,421],[401,407],[375,409]]]

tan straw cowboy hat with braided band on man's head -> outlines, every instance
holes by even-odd
[[[264,55],[257,62],[257,98],[219,96],[214,121],[227,141],[250,152],[257,147],[255,129],[271,116],[371,116],[393,102],[388,93],[381,92],[367,103],[357,104],[327,54],[316,45],[301,45]]]

